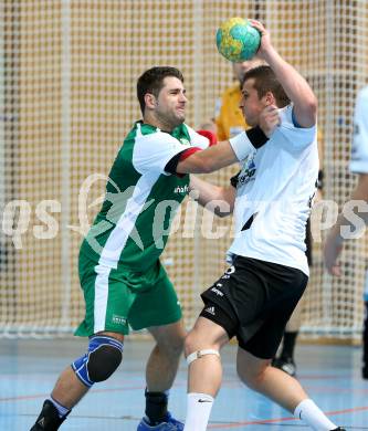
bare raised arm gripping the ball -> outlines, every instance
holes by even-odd
[[[274,71],[285,93],[294,104],[296,122],[302,127],[312,127],[316,124],[317,98],[306,80],[288,64],[274,49],[271,38],[264,25],[255,20],[251,24],[262,34],[259,56],[264,59]]]

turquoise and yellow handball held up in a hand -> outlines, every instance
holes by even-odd
[[[223,22],[215,34],[220,54],[234,63],[252,59],[260,43],[260,32],[248,20],[238,17]]]

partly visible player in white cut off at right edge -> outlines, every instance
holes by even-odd
[[[354,116],[354,138],[351,146],[350,171],[358,174],[358,185],[350,196],[350,200],[368,202],[368,86],[364,87],[357,97]],[[359,213],[355,207],[354,211],[368,224],[367,212]],[[351,218],[349,218],[351,220]],[[337,262],[343,250],[345,239],[341,228],[347,231],[356,228],[350,220],[345,218],[344,212],[339,214],[336,224],[332,228],[325,243],[325,264],[330,274],[340,276],[340,265]],[[368,275],[368,274],[367,274]],[[364,356],[362,377],[368,379],[368,278],[366,275],[366,288],[364,294],[366,318],[364,325]]]

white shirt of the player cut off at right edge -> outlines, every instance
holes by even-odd
[[[368,174],[368,86],[358,93],[355,106],[350,171]]]

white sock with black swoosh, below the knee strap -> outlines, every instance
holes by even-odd
[[[208,393],[188,393],[187,418],[183,431],[206,431],[213,404]]]

